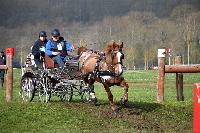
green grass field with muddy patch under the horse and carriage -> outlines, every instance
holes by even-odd
[[[95,84],[97,106],[82,103],[80,97],[63,103],[54,98],[50,103],[34,100],[23,103],[19,97],[20,70],[14,71],[13,100],[5,102],[5,88],[0,90],[0,132],[192,132],[193,84],[199,74],[184,74],[185,101],[176,101],[175,74],[166,74],[165,102],[156,102],[157,71],[127,71],[129,103],[121,108],[123,89],[111,88],[120,107],[113,116],[107,94]]]

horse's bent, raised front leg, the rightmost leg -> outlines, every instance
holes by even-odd
[[[128,84],[126,83],[125,80],[122,80],[120,83],[120,86],[124,88],[124,95],[121,98],[121,104],[122,105],[126,105],[127,101],[128,101]]]

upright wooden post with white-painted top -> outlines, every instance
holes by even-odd
[[[157,101],[164,101],[165,49],[158,49]]]

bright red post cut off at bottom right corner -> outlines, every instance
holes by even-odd
[[[200,83],[194,84],[193,133],[200,132]]]

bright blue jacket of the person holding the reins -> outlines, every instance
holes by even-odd
[[[59,46],[61,46],[61,47],[59,47]],[[59,51],[59,52],[61,52],[61,56],[66,56],[67,51],[71,52],[72,50],[73,49],[72,49],[71,44],[66,40],[55,42],[55,41],[53,41],[53,39],[49,39],[49,41],[46,44],[45,53],[51,57],[51,56],[53,56],[52,52]]]

